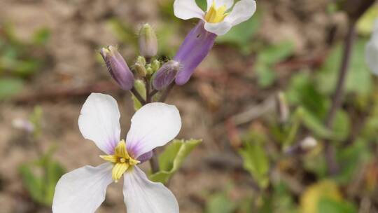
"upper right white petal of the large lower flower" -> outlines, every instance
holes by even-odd
[[[151,103],[141,107],[134,116],[126,137],[127,151],[138,158],[144,153],[163,146],[179,134],[179,110],[164,103]]]

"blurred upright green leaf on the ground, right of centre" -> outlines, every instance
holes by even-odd
[[[265,137],[251,132],[247,139],[244,139],[244,147],[239,149],[239,154],[244,160],[244,169],[247,170],[259,186],[265,188],[269,178],[269,159],[266,156],[263,143]]]

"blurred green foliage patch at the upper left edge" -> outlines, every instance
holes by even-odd
[[[29,41],[22,41],[13,25],[0,25],[0,100],[16,95],[22,90],[24,79],[42,69],[43,47],[49,37],[50,31],[43,28]]]

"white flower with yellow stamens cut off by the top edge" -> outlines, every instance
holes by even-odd
[[[234,7],[232,8],[232,6]],[[200,18],[205,22],[204,28],[218,36],[251,18],[255,11],[256,2],[254,0],[240,0],[235,5],[234,0],[207,0],[206,13],[197,6],[195,0],[174,1],[174,15],[177,18],[183,20]]]

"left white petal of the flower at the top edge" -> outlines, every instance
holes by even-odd
[[[195,0],[175,0],[174,15],[177,18],[188,20],[190,18],[204,18],[204,11],[201,10]]]

